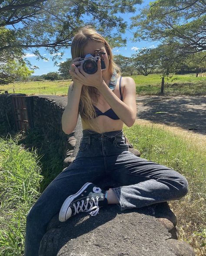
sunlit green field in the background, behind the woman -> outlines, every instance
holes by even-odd
[[[136,93],[138,95],[158,95],[161,86],[161,77],[159,74],[150,74],[148,76],[131,76],[136,83]],[[71,80],[60,81],[40,81],[25,83],[10,83],[0,86],[0,93],[5,90],[8,93],[50,94],[67,95],[68,86]],[[174,75],[172,79],[165,79],[165,94],[169,95],[197,95],[206,93],[206,73],[202,77],[196,77],[195,74]]]

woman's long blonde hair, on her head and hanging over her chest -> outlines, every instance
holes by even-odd
[[[116,73],[120,76],[121,70],[113,61],[113,54],[109,43],[91,26],[82,27],[74,36],[71,45],[72,59],[83,57],[83,49],[89,41],[103,43],[109,58],[108,71],[110,76],[112,76],[114,70],[116,70]],[[93,107],[93,103],[96,104],[98,101],[98,96],[100,96],[100,94],[95,87],[82,86],[78,111],[83,122],[93,127],[93,130],[97,129],[100,131],[95,120],[96,112]]]

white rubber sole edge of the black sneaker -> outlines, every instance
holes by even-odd
[[[73,201],[73,199],[76,197],[76,196],[79,196],[83,190],[85,190],[90,184],[92,184],[91,182],[87,182],[85,183],[78,192],[76,192],[76,194],[73,194],[71,196],[68,196],[66,198],[66,200],[63,202],[63,205],[60,209],[60,213],[59,213],[59,220],[61,222],[64,222],[66,221],[66,214],[67,214],[67,211],[68,209],[70,208],[70,203]]]

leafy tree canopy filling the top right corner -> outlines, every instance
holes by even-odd
[[[204,0],[156,0],[132,18],[135,40],[179,43],[181,53],[206,50]]]

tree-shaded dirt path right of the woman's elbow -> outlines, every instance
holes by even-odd
[[[137,119],[206,135],[206,96],[136,96]],[[156,112],[167,112],[159,113]]]

